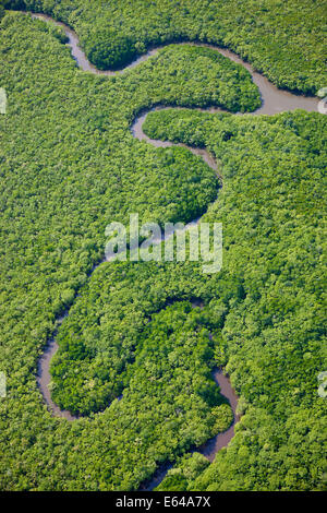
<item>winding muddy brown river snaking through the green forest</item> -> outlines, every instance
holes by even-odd
[[[158,50],[162,47],[156,47],[150,49],[147,53],[141,56],[140,58],[135,59],[131,64],[126,65],[123,70],[121,71],[100,71],[97,68],[95,68],[87,59],[85,56],[84,51],[80,48],[78,45],[78,37],[72,31],[70,27],[64,25],[63,23],[56,22],[52,20],[50,16],[44,15],[44,14],[33,14],[33,17],[37,17],[47,22],[52,22],[56,23],[57,25],[60,25],[63,27],[69,41],[68,46],[71,48],[72,57],[75,59],[77,65],[90,73],[95,74],[101,74],[101,75],[116,75],[117,73],[123,73],[125,70],[132,69],[136,65],[138,65],[141,62],[146,61],[158,52]],[[245,116],[253,116],[253,115],[275,115],[277,112],[283,112],[287,110],[294,110],[294,109],[304,109],[308,112],[311,111],[317,111],[318,110],[318,98],[316,97],[307,97],[307,96],[302,96],[302,95],[296,95],[292,94],[288,91],[282,91],[278,90],[274,84],[271,84],[265,76],[263,76],[261,73],[257,73],[256,71],[253,70],[251,64],[247,62],[244,62],[239,56],[237,56],[233,51],[225,49],[225,48],[219,48],[214,45],[206,45],[206,44],[196,44],[196,43],[181,43],[181,44],[190,44],[190,45],[199,45],[199,46],[207,46],[209,48],[215,49],[219,53],[223,55],[225,57],[231,59],[232,61],[242,64],[246,70],[252,75],[253,82],[257,85],[259,92],[261,92],[261,97],[262,97],[262,106],[252,114],[247,114]],[[161,107],[161,106],[156,106],[153,109],[149,109],[146,112],[142,112],[133,122],[131,127],[132,134],[138,139],[140,141],[146,141],[149,144],[153,144],[154,146],[158,147],[168,147],[172,145],[177,145],[174,143],[168,142],[168,141],[157,141],[157,140],[152,140],[149,139],[142,129],[142,126],[146,119],[147,114],[150,110],[155,109],[160,109],[160,108],[168,108],[168,107]],[[175,108],[175,107],[174,107]],[[201,109],[199,109],[201,110]],[[202,109],[205,112],[221,112],[223,111],[220,108],[213,107],[208,109]],[[184,144],[180,144],[181,146],[185,146]],[[217,164],[215,158],[206,151],[203,148],[194,148],[190,146],[187,147],[193,154],[201,156],[207,164],[208,166],[217,174]],[[221,178],[221,177],[220,177]],[[197,223],[199,219],[196,219],[194,222],[191,222],[190,225],[192,226],[195,223]],[[158,241],[158,243],[160,243]],[[105,262],[106,259],[102,260]],[[98,265],[100,265],[102,262],[100,262]],[[97,266],[97,265],[96,265]],[[95,266],[95,267],[96,267]],[[95,269],[94,267],[94,269]],[[193,303],[193,307],[201,306],[199,303]],[[69,314],[69,310],[60,318],[57,320],[57,325],[58,327],[62,323],[63,319]],[[51,399],[51,393],[49,390],[49,384],[51,381],[50,372],[49,372],[49,367],[50,367],[50,361],[52,356],[56,354],[58,350],[58,344],[56,342],[56,335],[57,331],[55,332],[53,336],[51,339],[48,341],[48,344],[39,358],[38,361],[38,372],[37,372],[37,383],[40,389],[40,392],[43,394],[44,401],[47,404],[49,410],[51,414],[56,417],[62,417],[66,420],[76,420],[78,417],[72,416],[70,411],[61,410],[59,406],[57,406],[53,401]],[[196,451],[201,452],[206,456],[210,462],[214,461],[215,455],[217,452],[221,449],[228,445],[230,440],[234,436],[234,425],[239,420],[239,416],[237,414],[237,406],[238,406],[238,396],[235,392],[233,391],[230,381],[228,377],[226,377],[222,373],[222,370],[220,369],[215,369],[213,372],[213,378],[217,385],[220,387],[220,393],[228,399],[232,410],[233,410],[233,422],[230,426],[230,428],[214,437],[213,439],[208,440],[206,443],[204,443],[201,448],[197,448]],[[108,405],[109,406],[109,405]],[[194,452],[194,451],[193,451]],[[162,466],[159,467],[159,469],[154,474],[150,480],[145,481],[143,485],[141,485],[140,490],[153,490],[155,487],[157,487],[161,480],[165,478],[167,475],[167,472],[169,468],[172,467],[172,464],[167,463],[164,464]]]

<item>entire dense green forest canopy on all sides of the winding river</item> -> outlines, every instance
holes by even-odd
[[[160,1],[159,12],[147,1],[4,2],[68,22],[104,67],[158,41],[202,39],[237,49],[278,85],[325,85],[324,4],[245,3],[180,1],[169,11]],[[64,40],[24,13],[0,24],[0,488],[133,490],[170,461],[159,489],[322,489],[326,117],[149,114],[152,138],[215,156],[221,188],[186,148],[155,148],[130,128],[157,104],[252,111],[258,91],[247,72],[207,48],[171,45],[121,75],[96,76],[77,69]],[[116,61],[102,53],[108,43]],[[161,225],[222,223],[222,271],[108,262],[92,272],[106,226],[131,212]],[[51,416],[36,384],[56,327],[52,397],[82,414],[73,422]],[[216,366],[230,374],[242,418],[209,464],[190,451],[232,419]]]

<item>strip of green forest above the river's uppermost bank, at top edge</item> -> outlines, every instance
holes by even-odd
[[[175,40],[234,50],[279,87],[326,85],[326,1],[318,0],[7,0],[51,14],[78,34],[92,62],[119,68],[146,48]]]

